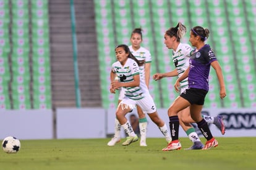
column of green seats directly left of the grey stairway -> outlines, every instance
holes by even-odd
[[[33,108],[51,108],[48,1],[31,1]]]

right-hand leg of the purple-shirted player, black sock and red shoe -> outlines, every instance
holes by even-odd
[[[192,119],[197,122],[198,129],[202,132],[203,136],[207,139],[207,142],[205,143],[204,149],[209,149],[211,147],[217,147],[218,142],[217,140],[211,135],[211,131],[208,127],[207,122],[205,119],[202,118],[201,111],[202,111],[203,105],[198,104],[192,104],[190,106],[190,114]]]

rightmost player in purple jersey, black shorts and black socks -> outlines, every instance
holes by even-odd
[[[189,41],[195,49],[190,56],[189,67],[174,84],[176,91],[180,91],[181,82],[188,78],[189,88],[181,93],[168,109],[172,142],[169,143],[168,147],[163,148],[163,151],[179,150],[181,148],[181,143],[179,142],[179,117],[177,114],[179,111],[182,111],[189,106],[190,116],[197,123],[198,128],[207,139],[207,142],[202,149],[206,150],[218,146],[217,140],[211,135],[208,124],[201,115],[205,96],[209,90],[208,77],[210,66],[215,69],[220,83],[220,98],[223,99],[226,96],[220,64],[211,50],[210,45],[205,44],[205,40],[207,40],[209,33],[207,28],[204,29],[200,26],[190,30]]]

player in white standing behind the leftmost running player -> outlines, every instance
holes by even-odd
[[[130,52],[139,60],[145,61],[145,64],[140,66],[140,81],[145,81],[147,88],[149,87],[150,82],[150,66],[151,66],[151,54],[150,51],[143,48],[141,45],[142,43],[142,28],[135,28],[130,35],[130,43],[129,46]],[[120,88],[119,91],[119,100],[118,104],[124,98],[124,90]],[[139,127],[140,127],[140,146],[147,147],[146,138],[147,138],[147,118],[143,113],[142,109],[137,106],[137,112],[139,115]],[[114,125],[114,137],[108,142],[109,146],[114,146],[117,142],[120,141],[120,132],[121,132],[121,125],[115,120]]]

